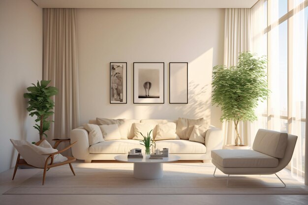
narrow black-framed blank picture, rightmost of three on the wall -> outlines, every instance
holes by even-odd
[[[188,104],[188,62],[169,62],[169,103]]]

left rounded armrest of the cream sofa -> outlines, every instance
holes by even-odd
[[[89,156],[89,134],[83,127],[78,127],[70,131],[71,143],[77,142],[72,146],[72,154],[76,159],[87,159]]]

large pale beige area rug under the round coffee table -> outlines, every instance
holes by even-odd
[[[52,168],[42,186],[42,172],[4,194],[308,194],[308,186],[293,179],[288,171],[278,176],[286,188],[228,188],[227,178],[215,178],[210,163],[165,163],[159,179],[133,177],[130,163],[75,163]],[[17,171],[21,172],[22,170]],[[217,174],[222,174],[218,172]],[[275,175],[232,178],[230,186],[280,186]]]

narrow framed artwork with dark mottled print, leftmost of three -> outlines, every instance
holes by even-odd
[[[127,103],[127,63],[110,63],[110,103]]]

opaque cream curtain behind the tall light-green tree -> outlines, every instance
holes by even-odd
[[[250,37],[250,9],[226,8],[224,27],[224,65],[236,65],[239,53],[249,51]],[[224,144],[234,144],[236,133],[233,121],[222,124]],[[239,123],[239,131],[244,144],[247,145],[248,129],[246,122]]]

